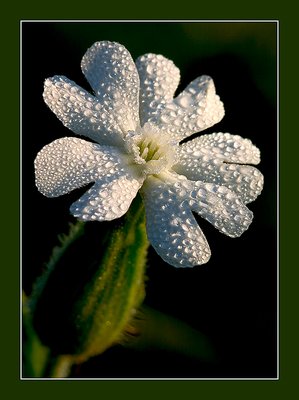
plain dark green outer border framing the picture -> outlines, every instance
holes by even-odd
[[[57,2],[58,3],[58,2]],[[7,205],[12,210],[3,213],[5,227],[2,231],[4,234],[3,242],[5,243],[5,251],[2,264],[2,282],[5,288],[2,289],[3,296],[2,315],[10,318],[2,324],[2,343],[4,343],[2,366],[3,388],[9,390],[13,395],[19,395],[24,398],[30,396],[32,398],[44,396],[45,392],[51,397],[53,394],[59,393],[62,397],[81,394],[93,395],[91,389],[97,390],[95,395],[108,394],[111,397],[119,397],[120,395],[130,395],[131,397],[144,396],[148,394],[156,394],[157,392],[167,392],[168,395],[181,397],[186,395],[189,397],[197,395],[208,395],[209,398],[225,397],[252,399],[273,397],[288,398],[288,394],[295,392],[296,384],[296,339],[298,330],[295,328],[297,315],[297,302],[295,293],[297,292],[296,277],[293,276],[295,268],[293,255],[289,251],[294,242],[295,235],[292,235],[291,227],[288,224],[288,210],[294,210],[293,202],[295,196],[288,196],[287,189],[292,182],[291,171],[296,171],[295,157],[292,157],[292,149],[288,146],[293,143],[293,137],[289,135],[294,131],[295,121],[292,116],[296,115],[294,108],[296,101],[292,102],[289,96],[295,91],[289,91],[296,80],[296,54],[293,49],[296,45],[295,41],[297,31],[296,13],[292,14],[292,7],[287,4],[276,6],[253,2],[250,4],[239,4],[235,6],[225,2],[221,6],[216,6],[213,12],[204,10],[204,6],[184,3],[181,4],[165,4],[166,10],[161,10],[161,2],[151,2],[146,11],[142,14],[142,4],[128,6],[126,3],[119,5],[114,4],[113,7],[99,5],[99,10],[93,9],[89,4],[88,8],[83,9],[79,4],[78,9],[75,5],[71,6],[61,2],[55,6],[54,2],[45,6],[45,4],[29,4],[25,2],[16,7],[16,11],[6,10],[3,15],[3,23],[1,26],[3,47],[2,76],[4,77],[5,104],[6,111],[3,114],[2,133],[5,143],[3,149],[14,149],[15,151],[4,151],[1,157],[3,162],[2,171],[5,176],[2,179],[3,196],[2,201],[5,202],[5,210]],[[94,7],[96,7],[96,5]],[[64,6],[64,9],[63,9]],[[80,7],[81,6],[81,7]],[[264,10],[262,9],[264,7]],[[281,7],[279,9],[278,7]],[[82,8],[82,9],[81,9]],[[111,10],[113,8],[113,10]],[[284,10],[289,11],[284,11]],[[159,13],[157,12],[159,10]],[[258,11],[256,11],[258,10]],[[289,13],[289,14],[288,14]],[[6,15],[7,14],[7,15]],[[158,15],[159,14],[159,15]],[[59,383],[53,381],[21,381],[19,378],[19,21],[27,19],[265,19],[278,20],[280,25],[280,378],[277,381],[61,381]],[[292,58],[291,58],[292,57]],[[288,80],[292,79],[291,82]],[[286,101],[286,96],[288,101]],[[7,98],[8,97],[8,98]],[[4,105],[5,105],[4,104]],[[10,105],[7,107],[7,105]],[[8,113],[8,118],[6,116]],[[292,142],[291,140],[292,139]],[[6,143],[6,141],[8,143]],[[295,149],[295,143],[292,146]],[[294,151],[294,150],[293,150]],[[12,156],[13,154],[13,156]],[[9,165],[9,174],[7,166]],[[287,168],[287,167],[291,168]],[[294,173],[294,172],[293,172]],[[295,179],[295,178],[294,178]],[[5,195],[6,191],[7,195]],[[12,192],[12,193],[11,193]],[[8,195],[9,193],[9,195]],[[288,196],[288,197],[286,197]],[[288,203],[286,203],[288,199]],[[287,204],[287,207],[286,207]],[[4,205],[3,205],[4,206]],[[286,230],[288,228],[288,230]],[[289,235],[283,235],[283,232],[289,232]],[[288,246],[287,246],[288,244]],[[297,269],[296,269],[296,273]],[[8,278],[8,280],[7,280]],[[290,279],[291,278],[291,279]],[[9,309],[7,310],[7,305]],[[59,388],[56,385],[59,385]],[[46,388],[44,387],[46,385]],[[67,387],[65,387],[67,385]],[[87,387],[88,385],[88,387]],[[50,388],[51,386],[51,388]],[[53,387],[54,386],[54,387]],[[157,394],[158,394],[157,393]],[[188,394],[187,394],[188,393]],[[160,393],[159,393],[160,394]]]

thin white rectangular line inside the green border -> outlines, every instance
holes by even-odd
[[[279,324],[280,324],[280,295],[279,295],[279,95],[280,95],[280,79],[279,79],[279,73],[280,73],[280,64],[279,64],[279,50],[280,50],[280,42],[279,42],[279,20],[268,20],[268,19],[255,19],[255,20],[237,20],[237,19],[227,19],[227,20],[208,20],[208,19],[203,19],[203,20],[188,20],[188,19],[178,19],[178,20],[160,20],[160,19],[152,19],[152,20],[135,20],[135,19],[128,19],[128,20],[123,20],[123,19],[111,19],[111,20],[20,20],[19,21],[19,40],[20,40],[20,49],[19,49],[19,68],[20,68],[20,343],[19,343],[19,348],[20,348],[20,380],[26,380],[26,381],[52,381],[52,380],[66,380],[66,381],[277,381],[280,379],[280,356],[279,356],[279,351],[280,351],[280,335],[279,335]],[[160,22],[168,22],[168,23],[275,23],[276,24],[276,66],[277,66],[277,72],[276,72],[276,83],[277,83],[277,101],[276,101],[276,107],[277,107],[277,129],[276,129],[276,138],[277,138],[277,169],[276,169],[276,178],[277,178],[277,209],[276,209],[276,216],[277,216],[277,357],[276,357],[276,362],[277,362],[277,376],[274,378],[27,378],[23,377],[23,368],[22,368],[22,24],[27,23],[27,22],[61,22],[61,23],[117,23],[117,22],[144,22],[144,23],[160,23]]]

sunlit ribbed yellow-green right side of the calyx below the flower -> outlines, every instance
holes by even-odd
[[[85,327],[88,336],[79,361],[122,341],[144,299],[148,245],[144,207],[138,196],[121,226],[111,233],[100,268],[77,303],[77,324]]]

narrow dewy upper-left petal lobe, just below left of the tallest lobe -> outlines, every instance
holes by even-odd
[[[123,133],[112,114],[96,97],[64,76],[46,79],[44,100],[74,133],[100,144],[121,143]]]

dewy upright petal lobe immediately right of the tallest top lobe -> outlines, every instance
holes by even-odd
[[[180,81],[180,71],[171,60],[160,54],[145,54],[136,60],[140,77],[141,125],[172,101]]]

